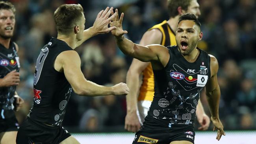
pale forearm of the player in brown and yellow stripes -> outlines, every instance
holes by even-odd
[[[126,96],[127,113],[137,111],[137,95],[139,91],[139,74],[128,70],[126,76],[126,83],[130,89]]]

